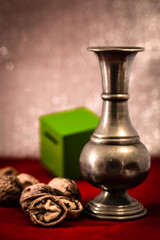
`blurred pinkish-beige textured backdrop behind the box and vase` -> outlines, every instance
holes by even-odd
[[[39,156],[39,116],[86,106],[100,115],[92,45],[144,47],[130,81],[130,116],[160,155],[159,0],[0,0],[0,155]]]

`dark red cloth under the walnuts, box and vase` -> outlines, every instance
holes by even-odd
[[[0,167],[13,166],[20,172],[32,174],[48,183],[52,175],[39,161],[0,161]],[[129,193],[148,210],[146,217],[133,221],[102,221],[81,215],[77,220],[65,220],[52,228],[34,225],[20,208],[0,207],[0,240],[160,240],[160,159],[152,160],[148,178]],[[100,190],[84,180],[77,181],[82,204],[97,195]]]

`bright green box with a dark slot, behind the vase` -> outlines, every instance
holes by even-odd
[[[79,156],[99,117],[85,107],[40,117],[41,162],[57,177],[81,177]]]

